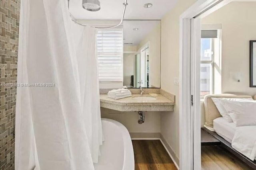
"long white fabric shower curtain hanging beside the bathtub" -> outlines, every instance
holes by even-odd
[[[21,3],[15,169],[93,170],[102,145],[95,30],[72,23],[66,0]]]

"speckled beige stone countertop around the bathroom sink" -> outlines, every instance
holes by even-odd
[[[134,97],[152,97],[156,100],[138,101]],[[175,102],[165,98],[161,94],[150,96],[149,94],[132,94],[131,97],[123,99],[108,98],[107,94],[100,94],[100,107],[118,111],[173,111]]]

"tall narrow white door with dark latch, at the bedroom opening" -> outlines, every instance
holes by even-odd
[[[190,93],[191,124],[193,126],[193,167],[201,169],[201,107],[200,107],[200,57],[201,19],[191,19]],[[199,148],[199,149],[198,149]]]

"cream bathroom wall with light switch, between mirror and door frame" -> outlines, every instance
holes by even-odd
[[[161,88],[176,96],[173,112],[161,113],[161,133],[179,163],[179,86],[174,85],[174,78],[179,77],[179,28],[180,15],[196,0],[179,0],[174,8],[162,19],[161,44]]]

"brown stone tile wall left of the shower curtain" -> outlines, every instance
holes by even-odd
[[[0,170],[14,170],[20,0],[0,0]]]

